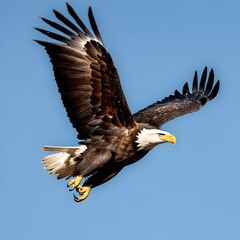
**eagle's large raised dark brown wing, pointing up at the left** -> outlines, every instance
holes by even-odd
[[[51,59],[63,104],[78,138],[92,136],[99,127],[134,126],[117,70],[103,46],[91,8],[88,16],[95,37],[69,4],[67,9],[78,26],[53,10],[63,25],[42,20],[62,34],[36,29],[60,43],[36,42],[45,47]]]

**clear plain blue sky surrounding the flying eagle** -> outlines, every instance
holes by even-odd
[[[217,98],[167,123],[177,144],[73,201],[43,170],[42,146],[76,145],[52,66],[32,39],[65,1],[0,3],[0,238],[4,240],[240,239],[240,1],[71,0],[92,6],[132,112],[214,68]],[[89,26],[89,25],[88,25]],[[48,28],[50,29],[50,28]]]

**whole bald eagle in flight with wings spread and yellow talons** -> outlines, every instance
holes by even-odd
[[[67,115],[81,140],[78,146],[45,146],[57,151],[42,162],[57,178],[71,178],[67,186],[87,198],[92,188],[116,176],[125,166],[144,157],[154,146],[176,138],[160,127],[179,116],[198,111],[218,93],[214,72],[203,70],[200,83],[195,72],[192,91],[188,83],[182,92],[158,101],[132,115],[124,96],[118,72],[104,47],[91,7],[88,16],[93,33],[67,3],[75,23],[53,10],[62,23],[42,20],[62,34],[36,28],[57,42],[36,40],[44,46]],[[84,179],[84,182],[83,182]]]

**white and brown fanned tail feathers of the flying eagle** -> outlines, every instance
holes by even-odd
[[[76,147],[44,146],[45,151],[59,151],[43,158],[44,169],[58,174],[58,179],[71,176],[77,164],[77,157],[87,149],[86,145]]]

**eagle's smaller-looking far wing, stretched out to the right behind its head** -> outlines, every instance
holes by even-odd
[[[175,91],[174,95],[164,98],[147,108],[133,115],[135,121],[141,123],[149,123],[156,127],[161,127],[164,123],[182,116],[187,113],[198,111],[208,101],[214,99],[218,93],[220,82],[219,80],[213,87],[214,71],[211,69],[208,81],[207,67],[203,70],[200,84],[198,86],[197,71],[193,79],[192,93],[189,90],[188,83],[185,83],[182,93]]]

